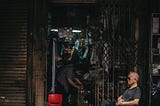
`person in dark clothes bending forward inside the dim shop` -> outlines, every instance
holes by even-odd
[[[63,106],[76,106],[76,101],[73,103],[73,100],[70,101],[68,98],[73,90],[80,90],[83,85],[75,75],[73,64],[64,65],[56,75],[56,80],[56,93],[63,94]]]

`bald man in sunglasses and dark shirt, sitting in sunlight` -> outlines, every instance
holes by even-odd
[[[118,97],[117,105],[126,105],[126,106],[137,106],[141,97],[141,91],[138,87],[139,75],[137,72],[130,72],[128,74],[128,85],[124,93]]]

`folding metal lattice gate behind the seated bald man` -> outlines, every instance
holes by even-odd
[[[102,4],[101,4],[102,3]],[[95,106],[115,101],[127,87],[126,76],[136,66],[135,8],[116,0],[100,2],[98,66],[101,80],[95,81]]]

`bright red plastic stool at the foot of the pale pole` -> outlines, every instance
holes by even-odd
[[[48,106],[62,106],[62,94],[49,94]]]

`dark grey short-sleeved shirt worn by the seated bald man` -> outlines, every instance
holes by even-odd
[[[141,97],[141,91],[139,87],[135,87],[132,89],[126,89],[124,93],[122,94],[122,99],[124,101],[131,101],[134,99],[140,99]]]

